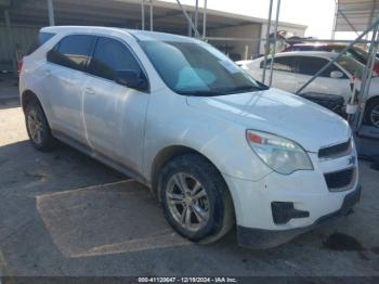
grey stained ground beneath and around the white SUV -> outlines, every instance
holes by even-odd
[[[379,276],[379,172],[367,162],[362,201],[347,217],[269,250],[238,247],[234,231],[196,245],[172,232],[138,182],[65,145],[37,152],[17,99],[4,96],[0,276]]]

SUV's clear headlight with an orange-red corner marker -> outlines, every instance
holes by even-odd
[[[296,142],[266,132],[247,130],[247,141],[256,154],[278,173],[313,170],[305,151]]]

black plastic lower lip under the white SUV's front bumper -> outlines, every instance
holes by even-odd
[[[290,230],[263,230],[263,229],[251,229],[243,225],[237,225],[237,238],[238,244],[249,248],[270,248],[286,243],[293,237],[302,234],[306,231],[312,230],[314,227],[324,223],[330,219],[335,219],[340,216],[347,215],[351,208],[360,201],[361,198],[361,186],[350,192],[343,198],[343,203],[340,209],[337,211],[327,214],[319,217],[313,224],[290,229]]]

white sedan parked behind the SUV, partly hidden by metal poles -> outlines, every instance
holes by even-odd
[[[293,51],[275,55],[273,65],[273,87],[295,93],[312,78],[337,53],[326,51]],[[240,61],[237,64],[258,80],[262,80],[264,57],[253,61]],[[267,60],[266,81],[270,74],[271,59]],[[328,69],[310,83],[302,93],[340,95],[347,103],[351,98],[350,82],[352,77],[363,74],[364,65],[350,56],[337,60]],[[357,90],[361,81],[357,83]],[[379,128],[379,77],[375,73],[369,89],[369,100],[366,103],[365,124]]]

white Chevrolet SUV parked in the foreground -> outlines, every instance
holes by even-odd
[[[103,27],[40,39],[21,72],[31,143],[56,138],[146,184],[181,235],[212,242],[236,222],[239,244],[270,247],[358,201],[349,125],[208,43]]]

